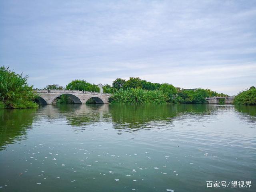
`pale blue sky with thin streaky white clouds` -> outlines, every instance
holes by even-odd
[[[0,65],[34,88],[140,77],[234,95],[256,86],[256,0],[2,0]]]

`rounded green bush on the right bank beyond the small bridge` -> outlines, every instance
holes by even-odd
[[[238,105],[256,105],[256,88],[251,87],[238,93],[234,98],[234,104]]]

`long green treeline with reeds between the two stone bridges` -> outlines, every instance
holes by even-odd
[[[210,89],[182,89],[172,84],[152,83],[138,77],[129,80],[117,78],[112,85],[103,87],[104,93],[111,93],[111,103],[120,104],[200,104],[206,103],[205,98],[211,96],[227,96]]]

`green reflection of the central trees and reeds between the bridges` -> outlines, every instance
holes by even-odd
[[[110,105],[110,114],[116,129],[148,129],[156,125],[172,125],[176,117],[188,113],[195,115],[210,114],[215,106],[210,105]],[[161,123],[160,123],[161,122]]]

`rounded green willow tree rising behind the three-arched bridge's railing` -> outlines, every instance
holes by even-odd
[[[70,82],[66,89],[71,90],[80,90],[80,91],[91,91],[91,92],[100,92],[100,88],[94,84],[90,84],[85,80],[73,80]]]

